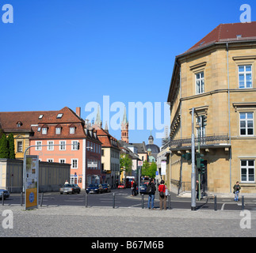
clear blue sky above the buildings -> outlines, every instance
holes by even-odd
[[[83,119],[86,104],[102,106],[103,96],[163,107],[175,55],[220,23],[239,22],[244,3],[256,16],[255,1],[236,0],[2,0],[1,15],[7,3],[13,24],[0,19],[0,111],[81,107]],[[147,144],[149,134],[131,130],[129,140]]]

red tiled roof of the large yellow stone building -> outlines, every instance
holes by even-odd
[[[237,36],[241,37],[238,38]],[[185,51],[184,54],[207,47],[212,43],[252,39],[256,40],[256,21],[251,23],[220,24],[212,32],[209,32],[207,36],[204,36],[203,39],[194,44],[193,47],[190,47],[188,51]]]

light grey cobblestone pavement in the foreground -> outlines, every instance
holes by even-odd
[[[256,211],[240,216],[240,211],[221,210],[42,206],[25,211],[21,206],[0,206],[2,224],[8,218],[4,210],[12,211],[13,228],[1,226],[1,237],[256,236]],[[241,228],[241,223],[250,228]]]

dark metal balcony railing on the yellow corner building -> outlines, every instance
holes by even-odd
[[[208,146],[230,145],[228,134],[213,134],[195,138],[195,146],[197,146],[198,141],[202,148]],[[191,138],[170,140],[170,142],[166,143],[162,149],[166,149],[167,147],[170,147],[170,149],[191,149]]]

